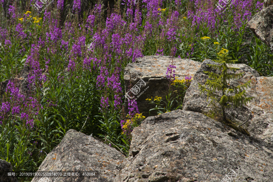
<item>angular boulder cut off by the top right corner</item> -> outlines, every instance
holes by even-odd
[[[265,44],[273,43],[273,1],[265,0],[263,9],[248,22],[248,27]]]

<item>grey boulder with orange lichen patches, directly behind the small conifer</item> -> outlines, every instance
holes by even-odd
[[[217,63],[210,59],[203,61],[185,94],[183,110],[202,113],[211,109],[207,107],[210,100],[207,101],[206,93],[200,95],[198,88],[198,83],[204,85],[208,79],[203,71],[215,72],[206,64]],[[244,76],[238,81],[231,80],[230,84],[238,86],[239,83],[246,83],[250,80],[251,84],[246,90],[246,95],[254,98],[247,105],[243,105],[243,108],[227,109],[227,117],[242,124],[250,118],[251,114],[254,114],[254,117],[243,127],[249,131],[251,136],[273,143],[270,139],[273,134],[273,77],[260,77],[257,71],[245,64],[232,64],[231,67],[240,68],[237,72],[243,72]]]

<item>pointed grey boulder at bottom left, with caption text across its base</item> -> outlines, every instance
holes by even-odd
[[[89,139],[90,138],[90,139]],[[75,130],[69,130],[39,167],[39,171],[95,171],[96,177],[51,177],[54,182],[113,182],[125,156],[115,148]],[[41,178],[33,178],[38,182]]]

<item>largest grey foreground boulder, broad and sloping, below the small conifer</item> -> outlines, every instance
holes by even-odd
[[[151,116],[132,135],[114,182],[273,181],[272,147],[201,113]]]

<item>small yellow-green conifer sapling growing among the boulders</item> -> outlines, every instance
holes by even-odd
[[[211,68],[219,71],[220,74],[211,71],[204,71],[205,74],[209,75],[209,79],[207,79],[204,86],[198,83],[199,89],[201,90],[200,94],[207,92],[207,101],[209,98],[211,99],[209,106],[212,105],[213,107],[217,107],[217,104],[220,104],[224,121],[227,121],[225,109],[230,107],[228,102],[233,103],[234,107],[242,107],[242,104],[246,104],[253,98],[247,98],[244,90],[250,86],[250,81],[238,86],[232,86],[229,84],[231,79],[238,79],[243,76],[243,73],[234,73],[234,71],[239,68],[227,66],[228,63],[234,63],[236,61],[230,60],[231,57],[228,57],[227,53],[227,49],[222,49],[218,53],[219,60],[214,61],[219,63],[219,65],[207,64]],[[207,88],[207,85],[209,88]],[[220,95],[216,90],[220,91]],[[228,93],[234,93],[234,95]]]

